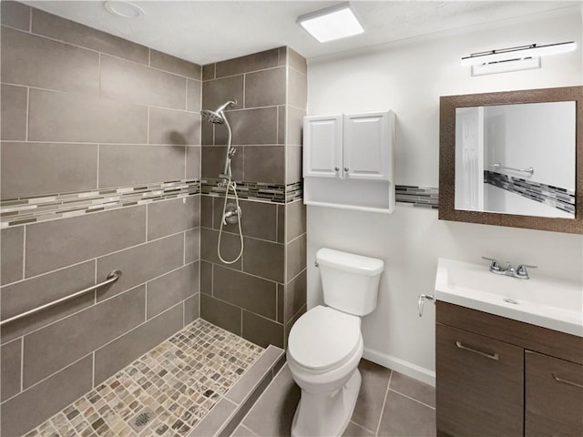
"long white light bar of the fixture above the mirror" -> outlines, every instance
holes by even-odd
[[[462,66],[481,66],[493,62],[513,61],[525,59],[527,57],[557,55],[559,53],[571,52],[577,48],[573,41],[568,43],[549,44],[547,46],[519,46],[491,50],[489,52],[473,53],[470,56],[462,57]]]

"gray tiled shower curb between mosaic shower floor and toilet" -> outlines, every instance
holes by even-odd
[[[247,412],[285,364],[285,351],[270,345],[245,371],[188,437],[227,437],[239,426]]]

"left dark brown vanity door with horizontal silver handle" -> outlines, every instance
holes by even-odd
[[[522,437],[524,350],[441,323],[435,333],[438,432]]]

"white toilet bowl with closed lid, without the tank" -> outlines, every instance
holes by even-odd
[[[310,340],[302,340],[307,334]],[[334,342],[332,336],[344,340]],[[319,306],[296,321],[287,360],[302,399],[293,416],[292,437],[343,433],[361,385],[357,366],[362,356],[360,318]]]

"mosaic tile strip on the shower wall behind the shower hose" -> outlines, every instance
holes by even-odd
[[[302,182],[294,184],[263,184],[261,182],[236,182],[237,196],[250,200],[271,203],[290,203],[302,198]],[[225,188],[222,179],[205,178],[200,180],[200,192],[210,196],[223,196]]]

